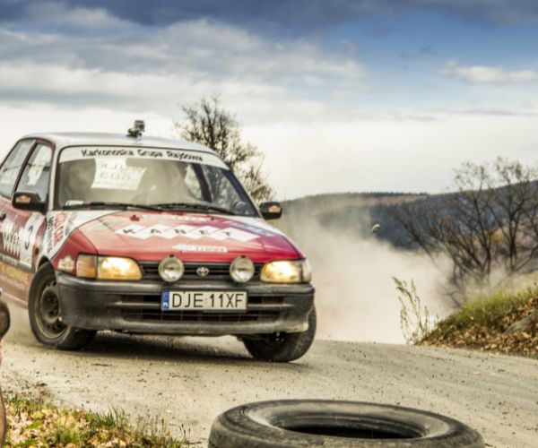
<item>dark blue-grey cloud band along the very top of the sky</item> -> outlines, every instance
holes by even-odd
[[[538,4],[534,0],[72,0],[32,2],[30,0],[2,0],[0,22],[34,20],[36,12],[41,20],[60,21],[55,8],[106,12],[121,21],[143,26],[168,26],[178,22],[206,19],[241,25],[250,30],[264,30],[273,34],[316,33],[345,22],[366,17],[387,16],[413,11],[449,13],[466,20],[495,23],[536,23]],[[98,13],[99,14],[99,13]],[[87,14],[91,25],[91,14]],[[72,17],[75,21],[75,17]],[[71,20],[67,17],[67,22]]]

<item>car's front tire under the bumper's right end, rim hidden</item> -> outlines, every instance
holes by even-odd
[[[243,343],[253,358],[281,363],[294,361],[302,357],[314,342],[316,323],[316,308],[312,308],[306,332],[259,334],[256,339],[243,339]]]

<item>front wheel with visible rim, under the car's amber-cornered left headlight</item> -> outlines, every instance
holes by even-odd
[[[56,275],[49,264],[43,264],[30,286],[28,316],[31,331],[39,342],[55,349],[77,350],[95,338],[93,330],[82,330],[61,321]]]

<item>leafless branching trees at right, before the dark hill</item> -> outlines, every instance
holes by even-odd
[[[467,162],[454,193],[404,203],[393,217],[432,260],[448,256],[456,289],[469,280],[491,286],[495,268],[512,275],[538,264],[537,177],[536,168],[508,159]]]

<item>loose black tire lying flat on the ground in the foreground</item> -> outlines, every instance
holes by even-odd
[[[262,401],[230,409],[211,428],[213,448],[482,448],[463,423],[424,410],[356,401]]]

